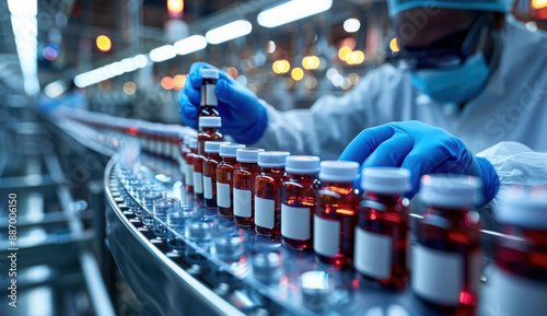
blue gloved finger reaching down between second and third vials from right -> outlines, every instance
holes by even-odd
[[[418,192],[421,176],[431,174],[435,166],[443,163],[445,160],[445,151],[435,144],[422,143],[416,145],[410,153],[407,154],[400,165],[401,168],[410,171],[412,190],[407,197],[412,198]]]

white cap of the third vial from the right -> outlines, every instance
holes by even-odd
[[[410,171],[397,167],[366,167],[362,171],[361,187],[376,194],[405,194],[412,188]]]

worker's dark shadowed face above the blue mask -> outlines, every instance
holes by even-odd
[[[476,16],[475,11],[412,8],[395,15],[393,27],[400,46],[431,48],[444,46],[444,40],[463,40]]]

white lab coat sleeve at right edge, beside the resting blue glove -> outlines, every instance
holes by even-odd
[[[493,165],[500,178],[500,190],[491,202],[493,209],[499,203],[499,197],[511,185],[547,185],[547,153],[534,152],[519,142],[500,142],[478,153]]]

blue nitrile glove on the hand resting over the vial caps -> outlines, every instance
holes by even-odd
[[[340,155],[363,167],[394,166],[410,171],[414,197],[426,174],[465,174],[482,179],[484,203],[498,192],[500,180],[490,162],[474,156],[447,131],[420,121],[391,122],[363,130]]]

